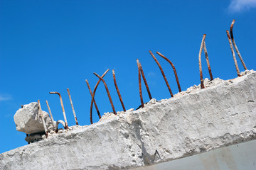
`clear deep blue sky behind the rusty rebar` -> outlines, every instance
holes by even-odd
[[[63,120],[58,91],[63,96],[68,125],[75,125],[67,88],[80,125],[90,124],[90,94],[106,69],[105,81],[117,111],[112,69],[124,106],[140,105],[136,59],[142,63],[151,95],[170,98],[161,72],[149,54],[161,52],[174,63],[184,91],[200,84],[198,52],[203,34],[213,77],[237,77],[225,30],[235,19],[236,44],[248,69],[256,69],[256,1],[4,1],[0,0],[0,153],[27,145],[16,131],[14,113],[22,104],[48,100],[55,120]],[[171,66],[158,55],[174,94]],[[202,55],[203,77],[209,78]],[[237,56],[238,59],[238,56]],[[240,71],[242,65],[238,60]],[[149,101],[143,87],[144,102]],[[95,100],[103,114],[112,111],[101,83]],[[93,110],[93,120],[98,121]]]

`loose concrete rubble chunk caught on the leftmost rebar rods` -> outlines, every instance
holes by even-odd
[[[43,111],[43,118],[46,122],[47,129],[53,130],[49,114]],[[41,114],[38,113],[38,103],[32,102],[18,109],[14,115],[16,130],[26,134],[45,132]]]

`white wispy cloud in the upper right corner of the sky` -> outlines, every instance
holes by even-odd
[[[242,12],[256,7],[256,0],[231,0],[228,9],[230,12]]]

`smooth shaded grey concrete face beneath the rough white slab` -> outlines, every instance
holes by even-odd
[[[256,140],[132,170],[256,169]]]

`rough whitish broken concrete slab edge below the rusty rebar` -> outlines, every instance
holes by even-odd
[[[251,72],[5,152],[0,169],[132,169],[255,139]]]

